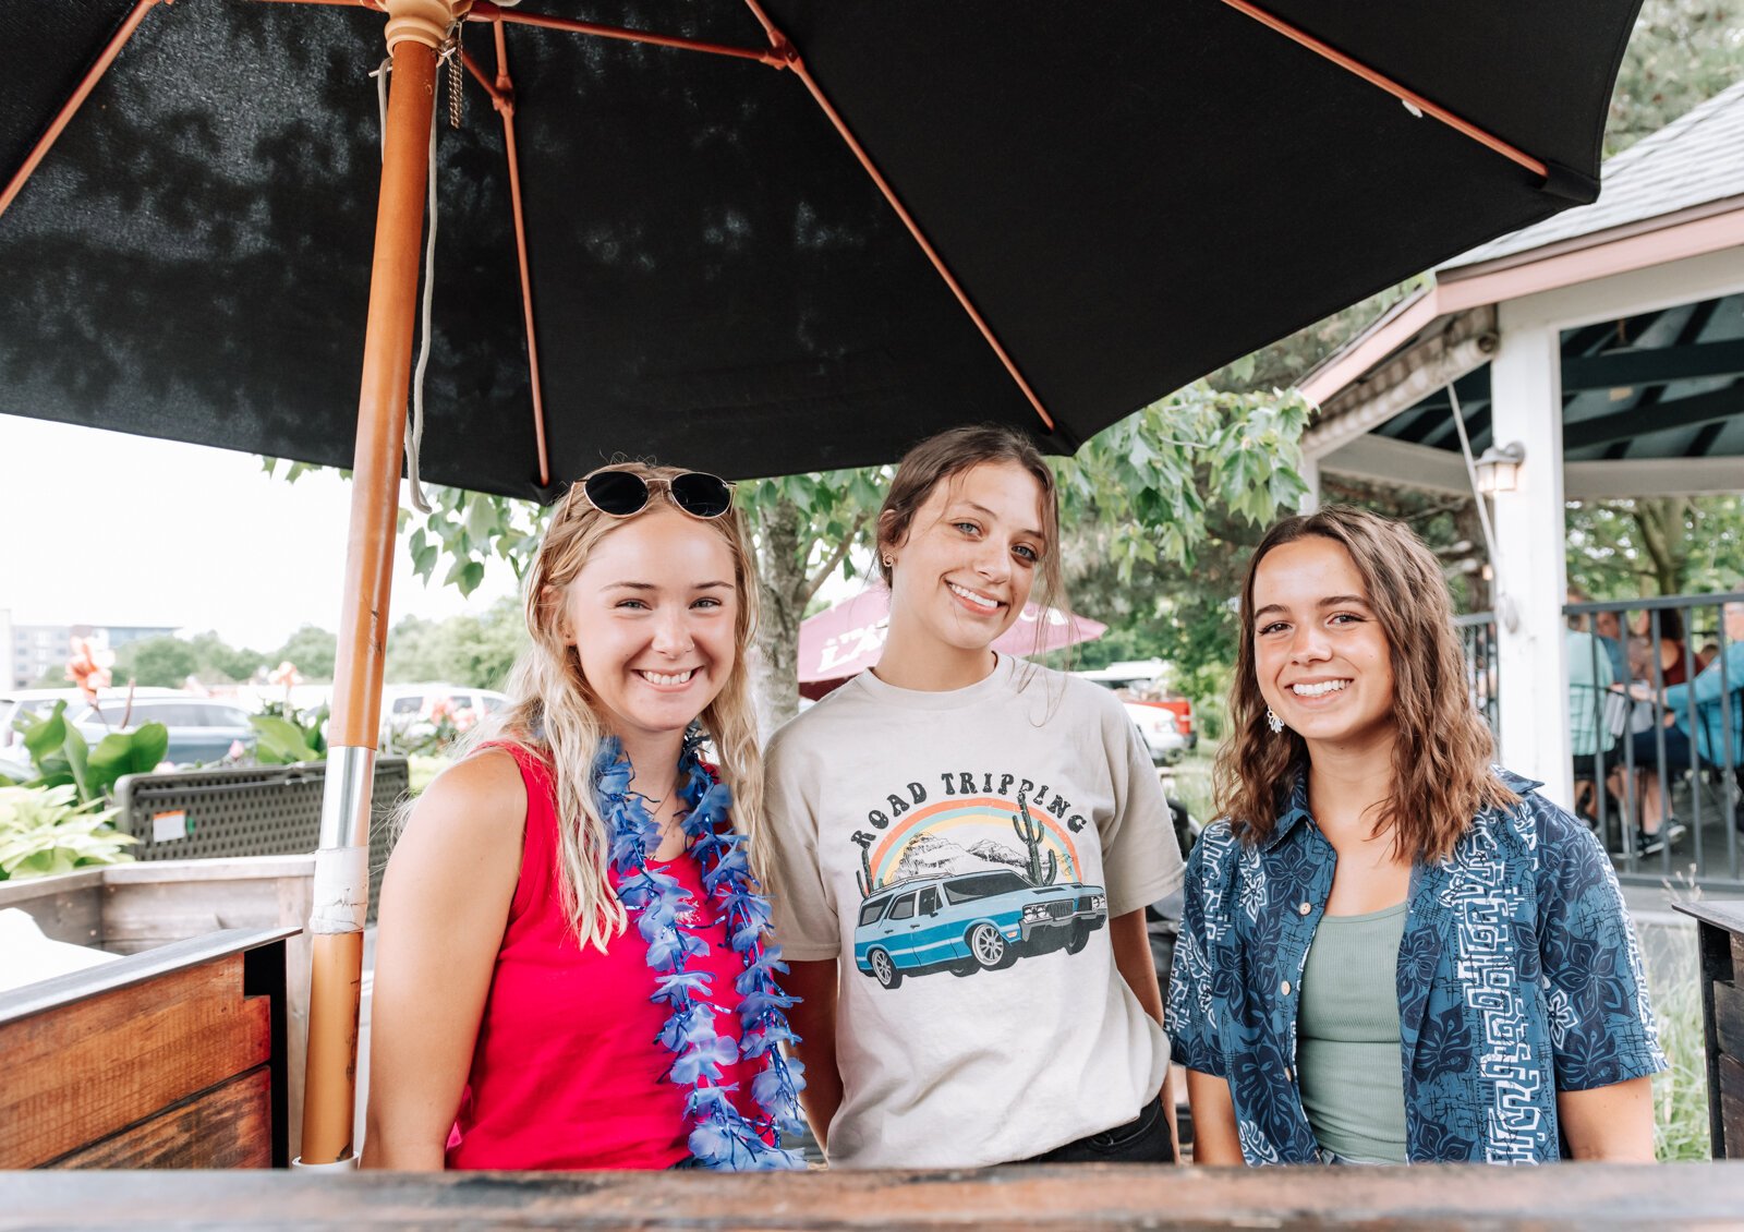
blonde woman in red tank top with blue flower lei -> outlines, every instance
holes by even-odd
[[[579,480],[525,607],[511,705],[382,885],[363,1164],[797,1166],[792,998],[745,846],[757,604],[731,485]]]

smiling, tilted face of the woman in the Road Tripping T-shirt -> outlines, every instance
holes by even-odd
[[[984,462],[935,485],[903,541],[881,548],[895,560],[886,656],[980,654],[1012,626],[1048,551],[1041,499],[1015,462]]]

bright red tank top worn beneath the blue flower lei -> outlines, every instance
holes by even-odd
[[[448,1136],[448,1167],[671,1167],[691,1153],[689,1087],[664,1080],[673,1054],[657,1037],[668,1009],[649,1000],[647,942],[631,916],[605,953],[581,949],[558,892],[551,773],[525,749],[497,747],[521,768],[527,836],[473,1068]],[[745,963],[727,946],[696,860],[682,855],[657,867],[698,904],[696,927],[685,927],[708,942],[708,955],[692,958],[687,970],[713,975],[715,1030],[736,1040],[741,998],[732,981]],[[748,1092],[759,1070],[760,1061],[722,1068],[722,1082],[739,1084],[734,1101],[748,1115],[755,1113]]]

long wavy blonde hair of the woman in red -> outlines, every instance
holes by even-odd
[[[685,473],[675,466],[640,462],[609,469],[630,471],[644,480],[670,480]],[[581,672],[579,651],[565,644],[563,597],[600,539],[659,508],[677,508],[666,485],[651,487],[647,506],[631,518],[600,513],[582,499],[579,483],[570,489],[551,517],[527,574],[523,607],[532,646],[516,660],[504,686],[509,705],[494,722],[481,724],[483,729],[469,742],[473,749],[487,742],[516,743],[551,770],[558,808],[558,888],[582,949],[596,946],[603,951],[624,932],[628,916],[612,890],[610,834],[593,796],[593,763],[610,729],[598,696]],[[703,710],[701,726],[713,743],[720,780],[732,791],[734,827],[755,839],[762,818],[762,752],[745,661],[757,635],[759,611],[752,541],[738,508],[720,518],[698,520],[698,525],[719,534],[732,553],[732,585],[739,604],[732,628],[732,670],[726,688]],[[755,860],[755,841],[752,852]],[[760,867],[760,860],[753,867]]]

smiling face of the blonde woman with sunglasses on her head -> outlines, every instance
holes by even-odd
[[[562,632],[626,743],[682,736],[727,684],[739,593],[720,530],[671,508],[624,520],[563,593]]]

